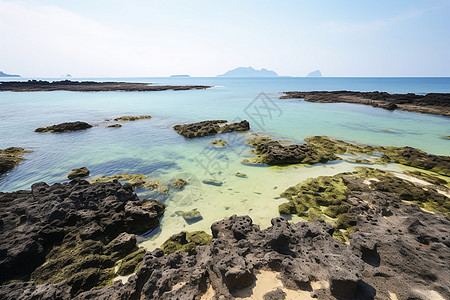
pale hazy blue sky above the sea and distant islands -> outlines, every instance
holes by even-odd
[[[24,77],[450,76],[450,0],[0,0]]]

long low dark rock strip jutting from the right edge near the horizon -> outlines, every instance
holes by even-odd
[[[281,99],[304,99],[320,103],[358,103],[380,107],[387,110],[406,110],[411,112],[450,116],[450,94],[429,93],[426,95],[389,94],[386,92],[315,91],[285,92]]]

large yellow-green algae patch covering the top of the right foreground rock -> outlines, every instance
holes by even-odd
[[[333,236],[341,241],[348,241],[348,234],[357,230],[361,205],[355,202],[355,198],[361,192],[377,193],[377,197],[391,200],[395,196],[398,201],[450,217],[450,199],[438,190],[448,190],[442,186],[445,180],[436,180],[422,173],[419,175],[428,182],[432,181],[430,185],[416,185],[390,172],[361,167],[351,173],[308,179],[281,194],[289,202],[279,206],[279,213],[296,214],[309,221],[323,219],[331,222],[335,228]]]

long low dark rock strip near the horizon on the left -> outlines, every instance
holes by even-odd
[[[207,89],[205,85],[151,85],[149,83],[133,82],[94,82],[94,81],[6,81],[0,82],[0,91],[11,92],[150,92],[166,90],[198,90]]]

